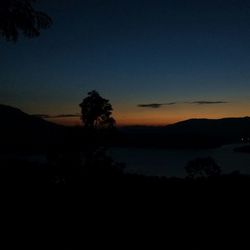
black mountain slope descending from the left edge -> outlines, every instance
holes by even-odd
[[[1,150],[27,150],[48,148],[59,143],[63,126],[22,112],[20,109],[0,105]]]

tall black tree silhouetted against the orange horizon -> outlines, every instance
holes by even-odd
[[[85,128],[113,128],[115,119],[112,117],[112,105],[102,98],[95,90],[88,93],[80,104],[81,119]]]

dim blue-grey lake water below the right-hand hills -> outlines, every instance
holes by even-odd
[[[242,144],[203,150],[112,148],[110,154],[115,161],[125,163],[128,172],[145,175],[183,177],[189,160],[206,156],[213,157],[223,173],[239,170],[250,174],[250,154],[234,152],[238,146]]]

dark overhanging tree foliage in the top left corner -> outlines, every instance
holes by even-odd
[[[51,18],[33,8],[36,0],[0,1],[0,36],[16,42],[22,32],[27,37],[37,37],[41,29],[51,26]]]

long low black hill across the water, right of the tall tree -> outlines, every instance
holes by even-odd
[[[121,128],[121,144],[138,147],[216,147],[250,138],[250,118],[189,119],[167,126]]]

